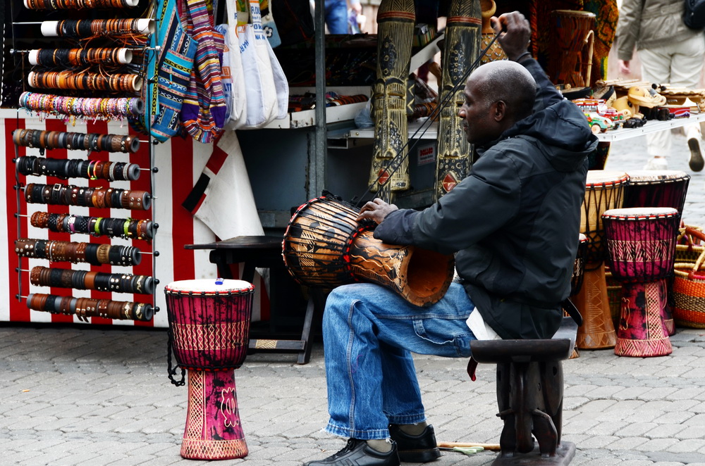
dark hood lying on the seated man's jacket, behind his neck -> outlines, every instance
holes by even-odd
[[[579,168],[598,143],[585,115],[575,103],[568,100],[556,102],[516,122],[499,140],[520,135],[543,141],[550,148],[544,155],[559,172],[570,172]],[[488,146],[493,146],[498,141]]]

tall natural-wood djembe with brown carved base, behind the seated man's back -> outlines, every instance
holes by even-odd
[[[589,170],[582,205],[580,232],[587,237],[582,288],[574,298],[583,323],[578,328],[575,346],[580,349],[613,348],[617,334],[607,296],[601,215],[622,206],[623,190],[629,182],[625,172]]]

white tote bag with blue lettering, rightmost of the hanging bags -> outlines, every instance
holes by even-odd
[[[262,30],[259,0],[250,0],[250,21],[238,27],[238,38],[247,94],[247,118],[241,128],[255,129],[266,125],[278,115],[269,42]]]

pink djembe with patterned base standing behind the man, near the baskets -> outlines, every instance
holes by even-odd
[[[666,278],[673,275],[680,213],[670,207],[621,208],[602,215],[608,264],[622,282],[615,354],[663,356],[673,351],[664,322]]]

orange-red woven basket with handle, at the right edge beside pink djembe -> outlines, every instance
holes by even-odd
[[[705,234],[686,227],[685,235],[691,239],[705,241]],[[694,263],[677,262],[673,267],[675,277],[673,279],[673,298],[675,307],[673,308],[673,320],[676,325],[682,327],[694,327],[705,329],[705,248],[703,246],[690,246],[700,248],[701,252]],[[692,257],[692,252],[691,256]]]

